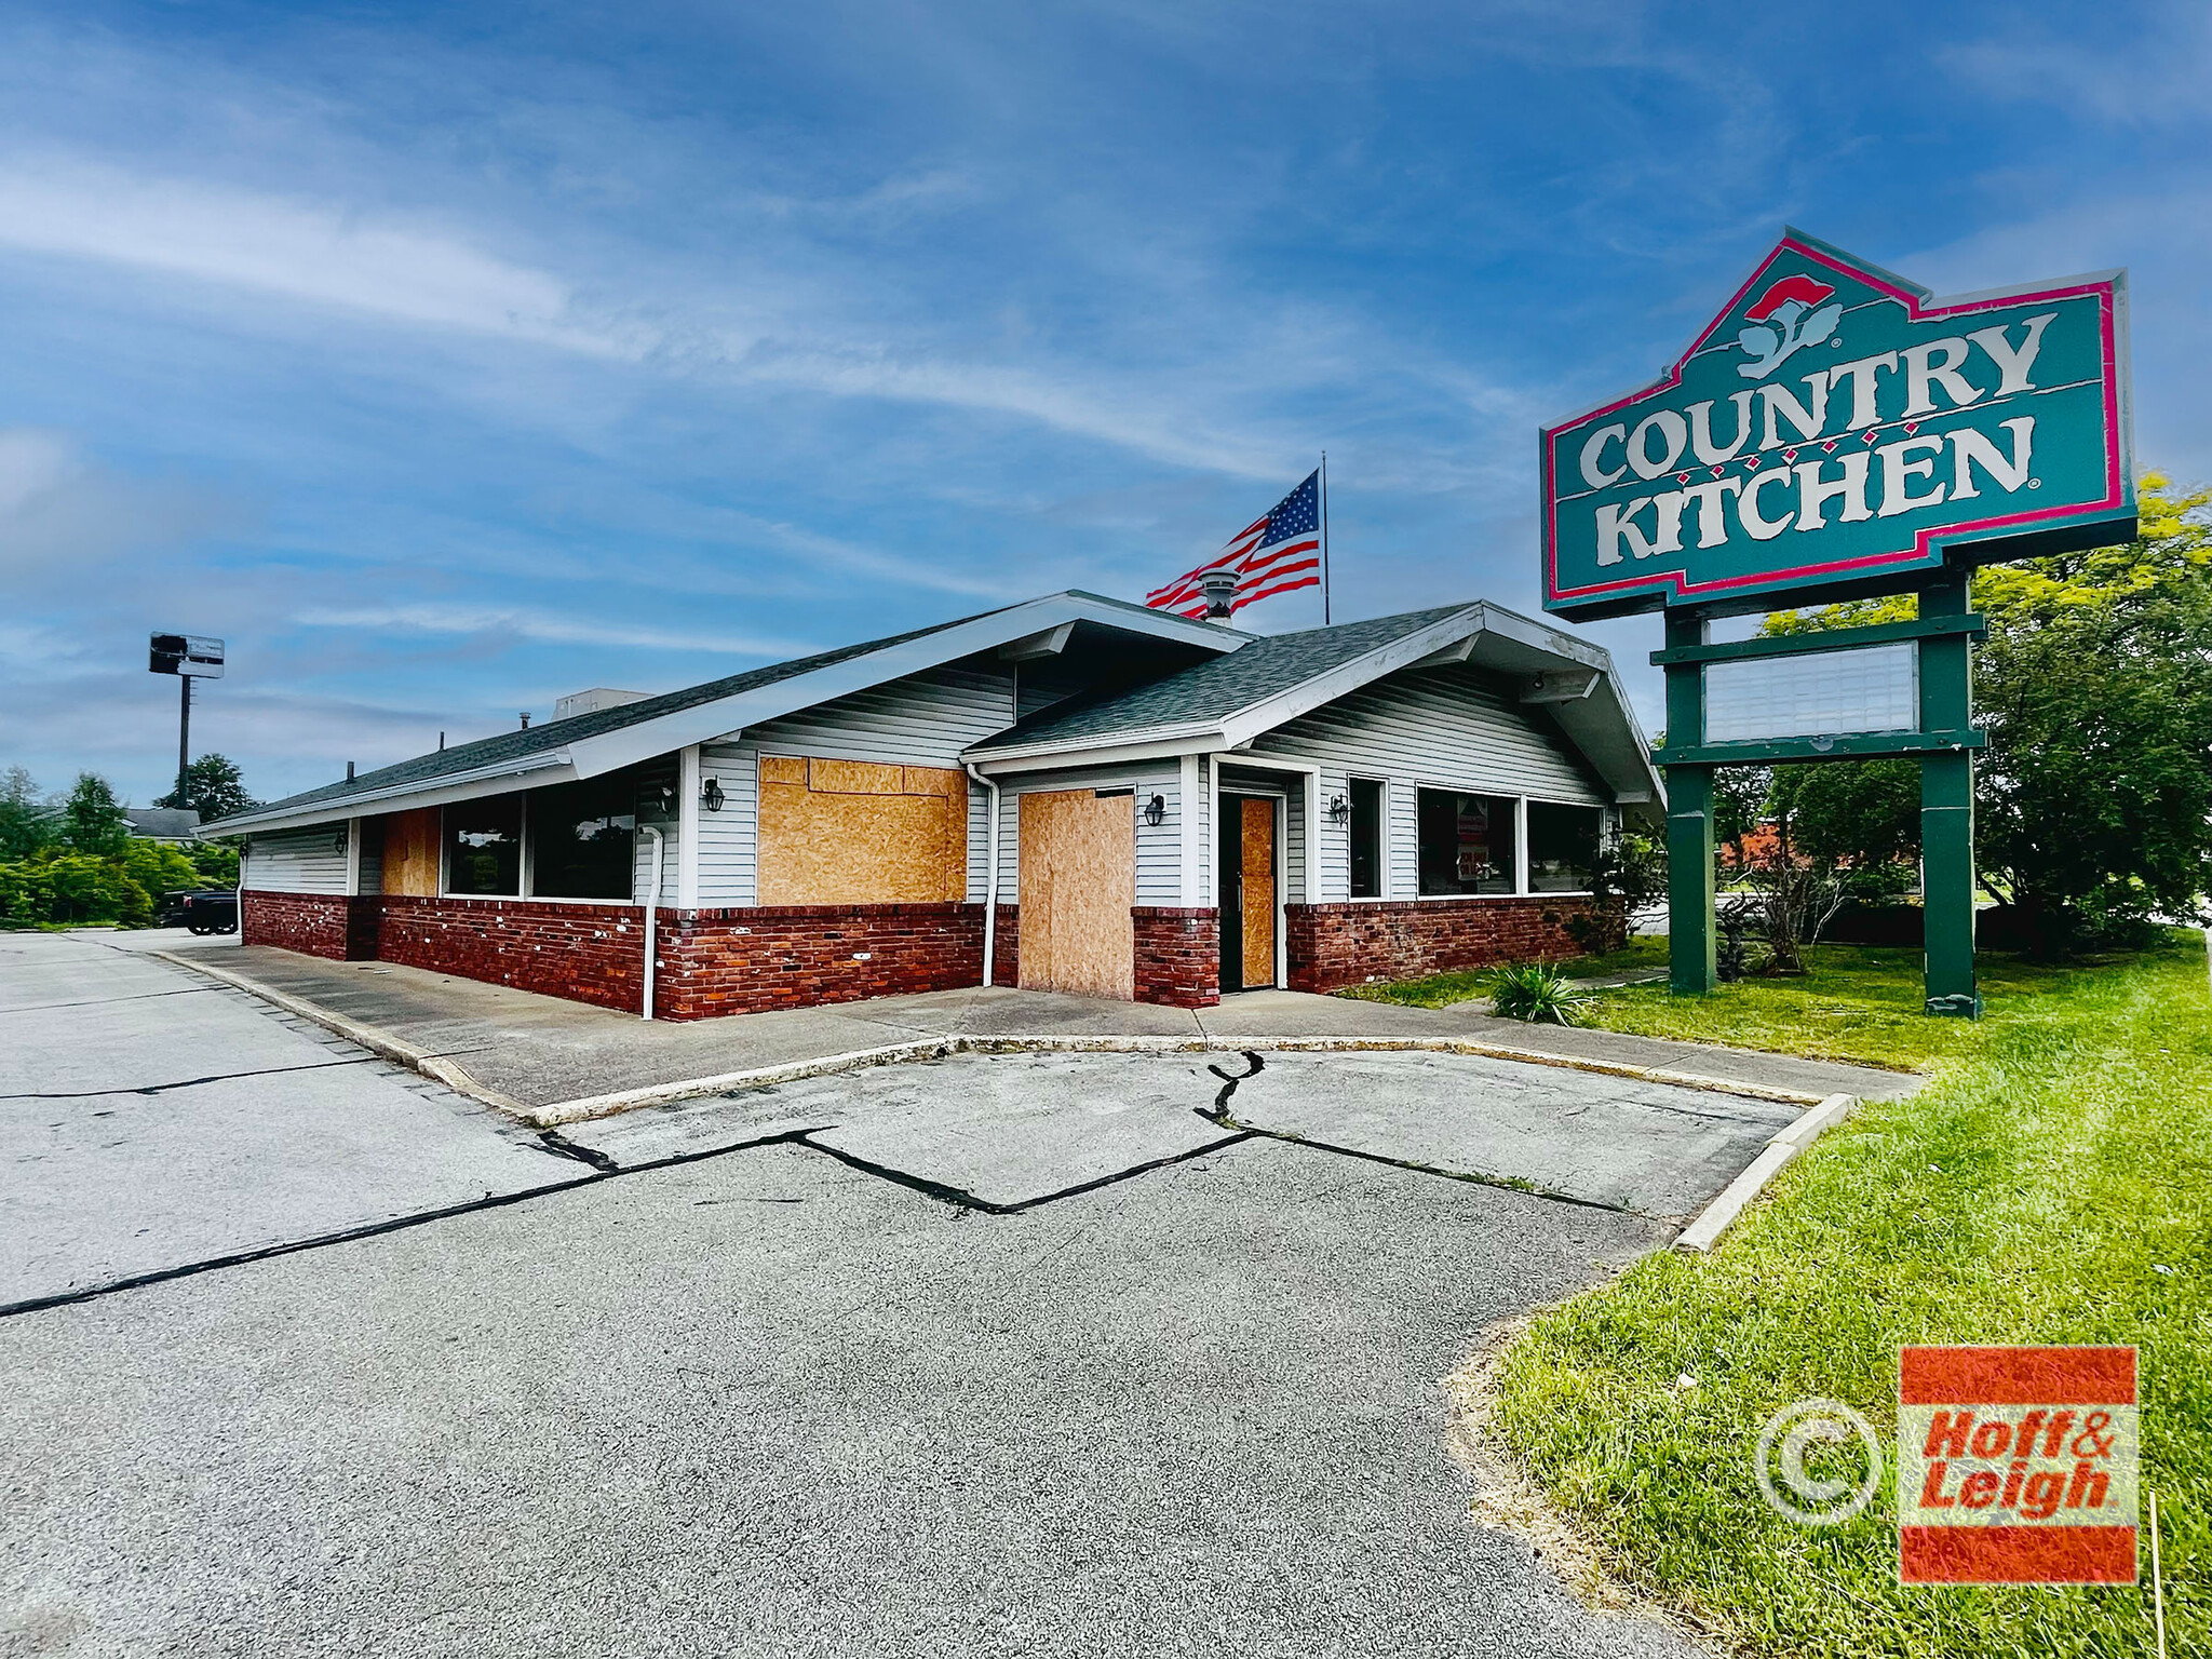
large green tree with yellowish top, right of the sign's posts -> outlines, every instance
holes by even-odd
[[[2208,918],[2212,491],[2146,473],[2139,500],[2132,542],[1973,575],[1973,606],[1989,617],[1975,653],[1975,723],[1989,732],[1975,856],[2039,953],[2119,942],[2157,918]],[[1916,613],[1905,595],[1778,613],[1767,633]],[[1856,792],[1832,785],[1851,799],[1801,805],[1801,834],[1834,814],[1849,841],[1882,821],[1882,799],[1902,796],[1871,768],[1858,776]]]

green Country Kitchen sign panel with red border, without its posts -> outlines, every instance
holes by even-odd
[[[1936,303],[1785,230],[1663,378],[1544,431],[1544,606],[1765,611],[2126,540],[2126,347],[2124,272]]]

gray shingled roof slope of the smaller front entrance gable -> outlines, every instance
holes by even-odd
[[[975,750],[995,750],[1015,743],[1110,739],[1157,726],[1228,719],[1279,692],[1318,679],[1332,668],[1343,668],[1369,650],[1380,650],[1411,633],[1420,633],[1429,624],[1453,617],[1471,608],[1471,604],[1447,604],[1438,611],[1405,611],[1396,617],[1371,617],[1369,622],[1340,622],[1334,628],[1310,628],[1305,633],[1261,635],[1241,650],[1201,661],[1197,668],[1186,668],[1166,679],[1053,703],[1020,726],[1009,726],[998,737],[984,739]]]

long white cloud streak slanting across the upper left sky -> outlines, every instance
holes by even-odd
[[[938,188],[953,186],[925,177],[911,192],[929,197]],[[1237,478],[1274,478],[1290,465],[1265,425],[1243,414],[1283,387],[1272,367],[1283,341],[1272,334],[1296,334],[1294,356],[1307,365],[1327,343],[1374,367],[1380,345],[1325,341],[1323,319],[1270,330],[1267,319],[1241,316],[1234,334],[1248,349],[1239,352],[1237,338],[1214,341],[1192,394],[1190,376],[1172,367],[1018,367],[887,338],[849,316],[891,310],[889,296],[876,294],[878,279],[865,274],[823,279],[803,292],[759,279],[748,292],[734,274],[717,285],[641,250],[608,248],[608,268],[657,270],[653,281],[670,292],[606,296],[606,285],[515,263],[480,243],[480,234],[429,215],[139,175],[58,153],[0,157],[0,250],[184,276],[257,301],[279,296],[387,327],[500,338],[668,376],[1011,416]],[[237,319],[246,327],[259,321],[252,307],[239,307]],[[1230,414],[1212,416],[1210,405]]]

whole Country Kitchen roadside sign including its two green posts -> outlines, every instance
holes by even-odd
[[[1659,380],[1544,429],[1544,606],[1666,613],[1677,993],[1714,982],[1714,768],[1909,754],[1927,1009],[1980,1009],[1966,577],[2135,535],[2126,325],[2124,272],[1931,301],[1785,230]],[[1916,622],[1712,639],[1911,591]]]

